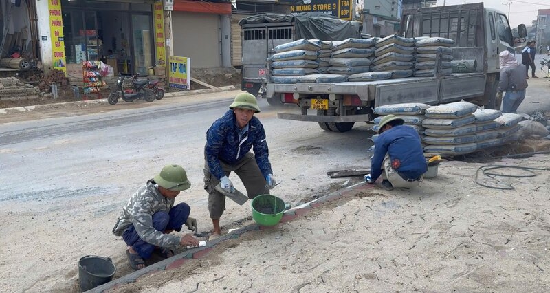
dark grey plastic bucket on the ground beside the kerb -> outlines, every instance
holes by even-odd
[[[78,282],[80,290],[94,289],[104,283],[109,283],[116,272],[116,266],[110,257],[87,255],[78,261]]]

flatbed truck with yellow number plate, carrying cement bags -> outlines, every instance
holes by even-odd
[[[519,25],[516,39],[526,35],[525,25]],[[476,72],[370,82],[267,83],[268,99],[300,108],[300,113],[278,113],[278,118],[318,122],[325,131],[345,132],[355,122],[373,120],[373,108],[387,104],[468,100],[491,109],[499,107],[498,54],[514,52],[514,36],[503,12],[484,8],[483,3],[404,10],[399,36],[453,39],[454,60],[476,60]],[[308,115],[308,109],[316,115]]]

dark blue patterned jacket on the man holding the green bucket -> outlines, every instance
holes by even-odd
[[[254,157],[263,177],[273,174],[268,158],[270,152],[265,141],[265,131],[263,131],[260,120],[252,117],[248,122],[248,132],[243,135],[241,142],[239,142],[240,131],[233,110],[225,112],[223,117],[216,120],[206,131],[204,151],[210,173],[220,179],[225,176],[220,160],[225,164],[235,164],[254,147]]]

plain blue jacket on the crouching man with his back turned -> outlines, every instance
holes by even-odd
[[[416,179],[428,171],[418,133],[412,127],[399,125],[384,131],[375,142],[371,165],[371,178],[377,180],[382,174],[386,153],[390,155],[393,168],[409,179]],[[399,166],[396,168],[396,163]]]

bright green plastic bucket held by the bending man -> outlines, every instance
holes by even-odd
[[[285,213],[285,202],[275,195],[258,195],[252,199],[252,219],[261,226],[275,226]]]

